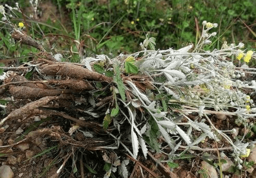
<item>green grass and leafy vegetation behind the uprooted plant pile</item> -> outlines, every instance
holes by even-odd
[[[256,17],[253,7],[256,2],[250,0],[123,0],[121,3],[117,0],[54,0],[51,2],[53,4],[40,2],[45,6],[39,5],[34,17],[27,19],[26,30],[35,38],[51,43],[53,53],[62,53],[67,58],[70,57],[69,54],[63,51],[70,51],[70,47],[72,52],[78,52],[83,48],[87,56],[102,53],[112,56],[132,53],[139,50],[139,43],[148,33],[156,38],[156,49],[169,47],[178,49],[188,43],[195,44],[200,37],[199,29],[202,28],[203,20],[219,24],[216,41],[210,46],[212,49],[220,48],[223,41],[243,42],[249,50],[253,50],[256,45],[256,35],[253,33]],[[4,0],[4,3],[15,6],[15,2]],[[31,4],[28,1],[19,3],[24,13],[29,16]],[[24,21],[22,14],[15,15],[17,17],[12,19],[13,23]],[[8,28],[1,27],[3,39],[0,42],[1,46],[8,47],[7,51],[1,50],[2,57],[13,57],[13,52],[18,48],[18,46],[8,46],[9,33]],[[49,41],[50,34],[54,34],[55,38]],[[7,38],[6,42],[5,38]],[[23,56],[28,51],[19,51],[15,53],[15,57]],[[70,58],[78,60],[80,57],[73,55]]]

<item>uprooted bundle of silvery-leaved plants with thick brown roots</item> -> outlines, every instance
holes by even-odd
[[[136,159],[139,149],[147,157],[150,148],[166,154],[168,159],[164,161],[169,161],[188,150],[212,149],[199,147],[205,138],[217,142],[224,139],[231,147],[218,149],[232,149],[238,168],[242,168],[239,156],[246,153],[250,143],[243,142],[243,138],[234,142],[226,134],[233,130],[219,130],[211,117],[233,116],[237,123],[249,127],[247,121],[256,116],[256,108],[241,89],[255,92],[256,83],[239,78],[251,77],[254,69],[236,68],[229,57],[244,57],[249,62],[255,55],[240,50],[242,43],[223,43],[220,50],[204,51],[216,35],[209,31],[216,26],[203,22],[202,37],[195,46],[148,50],[154,48],[155,39],[147,37],[140,44],[140,52],[113,59],[98,55],[85,58],[82,64],[55,60],[40,43],[13,26],[12,37],[16,41],[40,52],[23,68],[8,68],[4,73],[2,94],[7,91],[25,104],[11,110],[7,107],[0,125],[9,120],[26,122],[35,116],[68,119],[75,123],[69,134],[55,127],[35,132],[72,149],[113,150],[109,155],[103,154],[108,164],[105,177],[117,167],[123,177],[128,176],[129,160],[120,161],[114,153],[118,149],[125,149]],[[78,132],[83,133],[83,140],[76,138]],[[27,135],[24,141],[31,138],[31,134]],[[180,148],[184,151],[179,152]],[[60,174],[68,158],[56,174]]]

